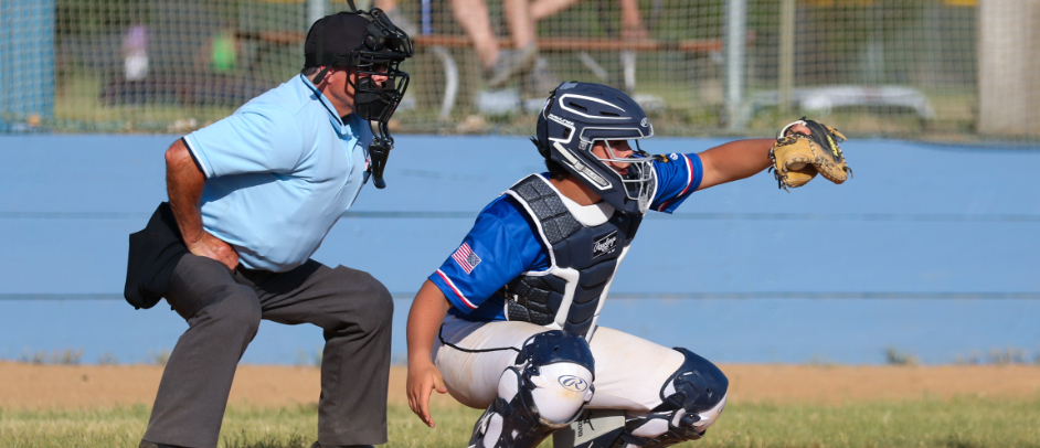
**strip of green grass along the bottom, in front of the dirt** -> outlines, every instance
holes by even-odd
[[[461,447],[477,409],[434,409],[428,429],[403,406],[390,408],[385,447]],[[144,405],[115,409],[0,409],[3,447],[136,447],[148,420]],[[309,448],[316,408],[231,408],[221,447]],[[688,446],[708,447],[1040,447],[1040,397],[959,397],[903,403],[827,405],[731,405],[708,437]],[[551,446],[550,442],[543,444]]]

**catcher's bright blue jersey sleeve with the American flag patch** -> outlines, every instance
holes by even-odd
[[[477,221],[441,268],[429,280],[441,288],[448,301],[460,312],[480,313],[491,320],[501,313],[481,307],[496,291],[521,273],[535,270],[539,262],[548,267],[548,258],[528,221],[513,201],[501,196],[477,216]]]

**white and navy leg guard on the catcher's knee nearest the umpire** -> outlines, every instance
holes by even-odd
[[[567,426],[592,399],[595,366],[588,343],[554,330],[528,339],[506,369],[498,398],[474,426],[475,448],[533,448]]]

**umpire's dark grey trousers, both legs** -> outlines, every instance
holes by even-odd
[[[325,330],[318,440],[386,442],[393,299],[368,273],[315,260],[282,274],[232,273],[185,255],[166,299],[189,328],[162,373],[144,440],[216,447],[235,367],[267,319]]]

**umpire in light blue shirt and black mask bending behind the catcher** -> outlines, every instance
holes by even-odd
[[[382,186],[412,42],[373,9],[317,21],[304,52],[300,75],[167,150],[169,203],[130,236],[127,300],[165,297],[189,324],[142,448],[216,447],[261,319],[325,331],[315,447],[386,441],[391,296],[310,256],[370,175]]]

